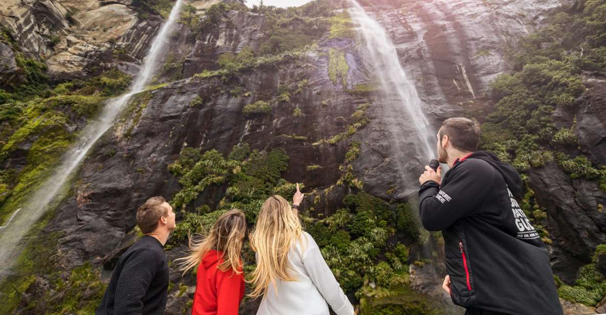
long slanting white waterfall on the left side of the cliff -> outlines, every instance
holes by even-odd
[[[112,127],[122,107],[127,104],[131,96],[145,90],[145,85],[154,73],[158,59],[168,42],[167,38],[179,18],[179,10],[183,0],[176,1],[168,20],[162,25],[158,35],[151,42],[150,50],[144,63],[130,87],[127,94],[111,99],[105,105],[96,121],[88,123],[72,150],[68,151],[62,159],[62,164],[53,175],[41,185],[32,195],[24,207],[17,210],[11,220],[0,230],[0,277],[8,274],[12,262],[16,260],[19,251],[19,242],[27,234],[30,227],[44,214],[55,197],[61,193],[62,186],[68,182],[73,171],[85,158],[88,150]]]

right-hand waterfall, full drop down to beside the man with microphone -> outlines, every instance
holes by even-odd
[[[387,36],[385,29],[371,18],[356,0],[350,1],[353,7],[349,9],[349,13],[351,19],[358,24],[358,32],[363,42],[362,53],[367,57],[365,59],[368,60],[368,67],[376,73],[381,85],[381,93],[377,101],[382,104],[381,109],[385,113],[382,114],[380,124],[384,125],[391,134],[390,143],[393,146],[390,147],[392,150],[390,154],[395,157],[393,160],[398,166],[401,188],[404,190],[404,187],[408,187],[409,193],[405,195],[410,197],[408,201],[414,205],[418,182],[417,177],[411,177],[410,174],[421,174],[423,165],[427,165],[430,159],[435,157],[435,149],[432,150],[433,145],[431,145],[431,143],[435,144],[435,133],[430,130],[415,84],[407,78],[399,62],[396,47]],[[410,159],[416,161],[407,165],[401,162]],[[413,213],[418,212],[413,211]],[[422,239],[430,237],[422,228],[419,232],[422,234]],[[431,253],[434,251],[432,242],[421,242],[419,250],[422,257],[431,258]],[[441,274],[435,269],[436,265],[430,264],[429,268],[434,268],[436,278],[434,281],[438,282]],[[433,285],[437,284],[433,283]],[[456,313],[450,301],[441,303],[444,305],[445,312]]]

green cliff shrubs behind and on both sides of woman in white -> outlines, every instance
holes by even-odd
[[[358,155],[356,150],[359,151],[358,143],[350,145],[350,162]],[[243,210],[247,221],[253,225],[262,202],[270,194],[288,198],[294,193],[295,184],[280,178],[287,165],[288,156],[284,150],[250,151],[247,144],[233,147],[227,159],[215,150],[204,153],[196,148],[182,150],[175,163],[168,167],[179,177],[182,186],[170,201],[180,220],[168,246],[184,244],[190,233],[205,233],[231,208]],[[319,165],[309,165],[308,170],[318,168]],[[193,208],[195,200],[205,190],[216,189],[225,191],[216,208],[207,205]],[[319,201],[316,196],[314,204]],[[416,242],[418,234],[410,206],[390,205],[362,192],[348,194],[342,204],[344,208],[324,219],[311,217],[311,209],[303,210],[299,215],[344,290],[355,293],[368,307],[377,299],[409,294],[408,247],[405,243]],[[388,237],[394,241],[386,245]],[[245,265],[250,267],[254,264],[254,254],[247,246],[244,251]],[[372,287],[370,283],[374,283]],[[418,299],[415,301],[419,302]],[[412,300],[394,300],[391,304],[399,306],[385,306],[385,310],[416,310]],[[418,314],[433,314],[431,309],[427,310],[427,313]]]

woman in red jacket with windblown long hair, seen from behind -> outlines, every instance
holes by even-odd
[[[246,220],[240,210],[223,214],[205,239],[190,240],[190,254],[181,258],[181,270],[198,265],[192,315],[237,315],[244,297],[240,252]]]

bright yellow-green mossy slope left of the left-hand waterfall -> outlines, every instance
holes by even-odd
[[[36,69],[39,69],[36,67]],[[34,71],[35,72],[35,71]],[[35,73],[36,78],[40,73]],[[105,71],[88,81],[72,81],[50,88],[37,83],[12,89],[0,105],[0,162],[15,154],[25,154],[27,164],[20,170],[7,168],[0,176],[0,224],[22,205],[51,173],[75,135],[68,125],[76,119],[93,118],[110,96],[122,93],[130,76],[118,70]],[[32,94],[25,97],[20,91]],[[38,94],[36,94],[38,93]]]

